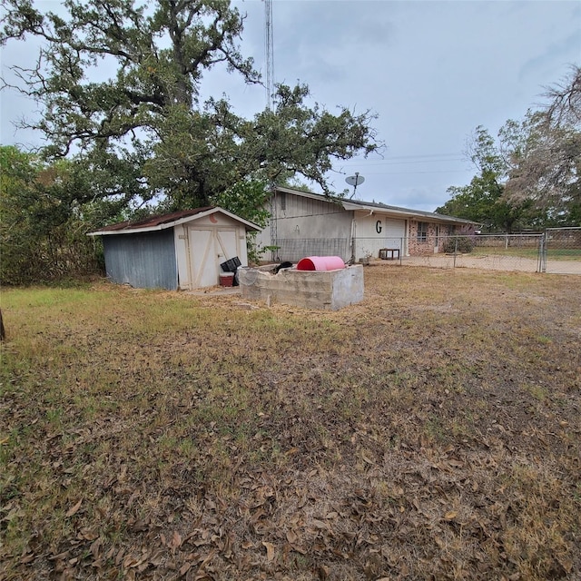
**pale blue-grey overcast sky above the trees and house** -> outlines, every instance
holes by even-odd
[[[232,4],[247,15],[241,52],[263,71],[264,3]],[[463,152],[479,124],[496,134],[581,64],[576,1],[273,0],[272,17],[275,82],[309,84],[313,100],[331,112],[342,105],[379,115],[373,125],[386,144],[383,158],[338,163],[334,189],[348,188],[345,178],[359,172],[360,199],[420,210],[434,211],[449,186],[473,177]],[[5,48],[3,74],[34,53],[24,47]],[[264,89],[223,72],[207,75],[202,93],[227,94],[247,116],[266,103]],[[11,125],[32,103],[4,93],[1,107],[2,143],[34,143]]]

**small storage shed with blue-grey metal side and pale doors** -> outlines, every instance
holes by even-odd
[[[175,291],[219,283],[220,265],[238,257],[248,265],[246,233],[261,228],[209,206],[90,232],[103,237],[107,277],[140,289]]]

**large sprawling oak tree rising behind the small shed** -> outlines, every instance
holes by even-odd
[[[50,143],[45,156],[84,165],[97,199],[178,209],[294,175],[330,192],[333,158],[380,147],[371,113],[309,105],[306,85],[279,85],[275,108],[251,120],[225,99],[200,103],[203,74],[218,64],[260,83],[238,46],[244,17],[228,0],[65,0],[66,15],[32,0],[5,5],[3,43],[44,41],[37,65],[15,70],[12,88],[42,107],[29,126]]]

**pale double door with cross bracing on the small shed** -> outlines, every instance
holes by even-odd
[[[192,288],[212,287],[220,280],[220,264],[237,256],[236,230],[190,228]]]

